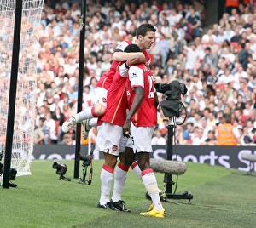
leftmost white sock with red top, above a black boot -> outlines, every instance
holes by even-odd
[[[101,173],[101,180],[102,180],[102,186],[101,186],[101,199],[100,204],[106,204],[107,202],[110,202],[109,196],[110,191],[113,183],[113,168],[103,164],[102,166],[102,173]]]

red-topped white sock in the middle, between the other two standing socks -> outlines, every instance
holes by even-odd
[[[125,180],[127,177],[127,172],[129,167],[125,167],[123,164],[119,163],[114,172],[114,185],[113,185],[113,202],[118,202],[121,200],[121,195],[125,186]]]

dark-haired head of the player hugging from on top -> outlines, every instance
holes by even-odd
[[[155,41],[155,27],[151,24],[142,24],[136,31],[137,44],[141,49],[149,49]]]

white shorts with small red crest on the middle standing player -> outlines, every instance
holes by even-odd
[[[123,128],[108,122],[103,122],[97,128],[96,150],[119,156],[119,153],[125,152],[125,147],[132,146],[132,140],[123,136]]]

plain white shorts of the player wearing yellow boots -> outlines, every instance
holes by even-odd
[[[153,152],[151,139],[154,133],[154,127],[135,127],[131,123],[131,135],[134,141],[134,152]]]

